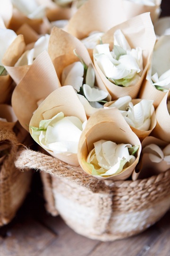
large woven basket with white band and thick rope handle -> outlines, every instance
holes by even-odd
[[[88,238],[113,241],[147,229],[170,208],[170,171],[148,179],[103,181],[49,155],[24,149],[16,166],[42,171],[48,210]]]

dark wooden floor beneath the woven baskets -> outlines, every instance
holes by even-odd
[[[0,256],[170,256],[170,211],[143,233],[101,242],[76,234],[44,208],[39,173],[15,219],[0,229]]]

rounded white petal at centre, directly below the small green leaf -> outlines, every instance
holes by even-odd
[[[88,84],[83,85],[83,91],[88,101],[102,101],[108,96],[106,91],[100,90],[99,88],[91,88]]]

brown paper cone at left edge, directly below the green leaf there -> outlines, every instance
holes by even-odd
[[[12,87],[12,79],[7,75],[0,75],[0,103],[8,103],[10,101]]]

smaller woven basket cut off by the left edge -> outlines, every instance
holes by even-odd
[[[9,145],[9,154],[0,165],[0,226],[8,224],[24,201],[31,183],[31,172],[20,172],[14,161],[18,150],[16,134],[0,128],[0,146]]]

